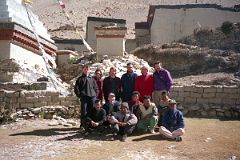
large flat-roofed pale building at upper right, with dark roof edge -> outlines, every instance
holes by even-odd
[[[136,43],[170,43],[196,28],[215,29],[225,21],[240,22],[240,9],[217,4],[151,5],[147,21],[135,23]]]

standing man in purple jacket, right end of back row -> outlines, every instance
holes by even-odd
[[[153,102],[158,107],[162,99],[162,92],[169,93],[173,80],[168,70],[162,68],[160,62],[154,63],[155,72],[153,73]]]

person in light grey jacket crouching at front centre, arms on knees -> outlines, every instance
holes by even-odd
[[[137,117],[129,111],[128,103],[123,102],[120,111],[114,113],[110,118],[114,138],[121,135],[121,141],[126,141],[127,136],[132,134],[135,129],[137,122]]]

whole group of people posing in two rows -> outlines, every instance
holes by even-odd
[[[102,79],[100,69],[90,76],[90,67],[84,65],[74,87],[81,101],[80,130],[87,136],[93,130],[103,133],[110,129],[113,139],[120,135],[125,141],[135,130],[155,133],[158,125],[161,135],[181,141],[184,119],[177,102],[169,98],[172,77],[160,62],[154,68],[151,74],[148,67],[142,66],[142,75],[138,76],[133,64],[128,63],[121,78],[111,67],[109,76]]]

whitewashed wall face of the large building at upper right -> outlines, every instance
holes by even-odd
[[[198,27],[215,29],[224,21],[240,22],[240,12],[215,8],[157,8],[151,26],[151,42],[168,43],[191,35]]]

